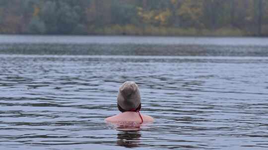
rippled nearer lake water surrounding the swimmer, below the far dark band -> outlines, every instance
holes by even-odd
[[[155,122],[119,131],[126,80]],[[0,55],[0,150],[268,149],[268,57]]]

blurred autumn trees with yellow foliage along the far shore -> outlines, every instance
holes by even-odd
[[[0,0],[0,34],[268,36],[268,0]]]

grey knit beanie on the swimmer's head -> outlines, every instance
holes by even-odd
[[[126,111],[131,111],[139,106],[140,95],[135,82],[126,81],[120,86],[117,104]]]

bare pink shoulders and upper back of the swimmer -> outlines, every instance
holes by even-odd
[[[141,114],[143,122],[153,122],[149,115]],[[107,122],[141,122],[138,112],[123,112],[105,119]]]

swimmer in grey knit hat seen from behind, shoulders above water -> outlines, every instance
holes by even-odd
[[[120,114],[106,118],[108,122],[153,122],[151,116],[141,114],[140,95],[135,82],[126,81],[119,88],[117,107]]]

